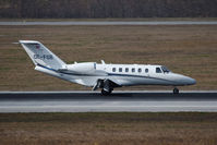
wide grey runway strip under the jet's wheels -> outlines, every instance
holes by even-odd
[[[212,92],[0,92],[0,112],[177,112],[217,111]]]

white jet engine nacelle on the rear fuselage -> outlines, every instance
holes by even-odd
[[[96,63],[85,62],[85,63],[68,64],[67,70],[77,74],[89,74],[95,72]]]

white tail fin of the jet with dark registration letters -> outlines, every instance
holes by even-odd
[[[63,69],[65,63],[43,44],[35,40],[20,40],[20,44],[31,57],[35,65],[44,65],[55,70]]]

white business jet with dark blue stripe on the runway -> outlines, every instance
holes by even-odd
[[[35,64],[35,70],[84,86],[93,90],[101,88],[103,95],[109,95],[114,87],[133,85],[173,86],[173,94],[179,94],[177,86],[193,85],[194,78],[172,73],[164,65],[150,64],[106,64],[82,62],[67,64],[43,44],[35,40],[20,40]]]

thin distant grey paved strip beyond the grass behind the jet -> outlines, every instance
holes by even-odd
[[[217,25],[217,21],[144,21],[144,22],[123,22],[123,21],[99,21],[99,22],[0,22],[0,25]]]

